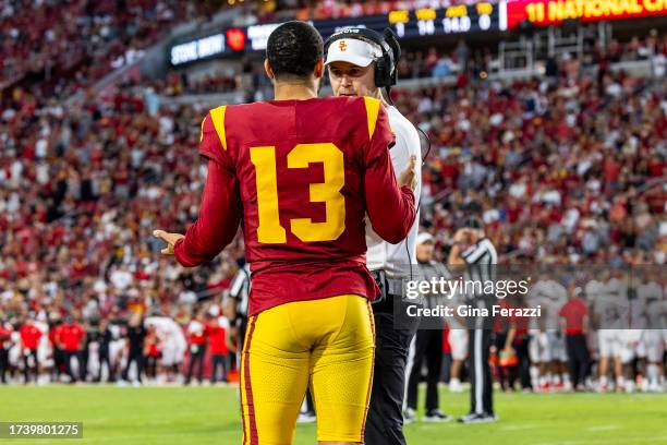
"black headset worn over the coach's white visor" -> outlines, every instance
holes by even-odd
[[[368,28],[344,28],[327,38],[325,55],[332,43],[343,38],[353,38],[380,47],[383,55],[375,59],[375,86],[386,88],[387,96],[389,96],[391,86],[398,81],[396,63],[401,57],[401,47],[396,34],[390,28],[385,28],[384,35]]]

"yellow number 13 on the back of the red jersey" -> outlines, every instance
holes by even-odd
[[[287,233],[280,225],[278,208],[276,147],[252,147],[250,154],[257,179],[257,240],[264,244],[284,243]],[[342,152],[331,143],[298,144],[290,151],[287,160],[288,168],[307,168],[313,163],[323,164],[324,182],[311,184],[311,202],[325,203],[326,208],[324,222],[313,222],[311,218],[294,218],[290,220],[290,230],[304,242],[338,239],[345,230],[345,199],[340,193],[345,182]]]

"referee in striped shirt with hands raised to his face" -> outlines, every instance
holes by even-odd
[[[454,245],[449,252],[451,266],[464,266],[466,281],[481,281],[482,288],[487,281],[496,278],[498,254],[496,248],[484,236],[482,221],[475,217],[468,218],[454,234]],[[485,293],[466,294],[466,304],[487,309],[492,306],[495,296]],[[493,317],[468,317],[469,370],[471,378],[470,412],[459,419],[462,423],[486,423],[498,420],[493,405],[493,381],[488,356],[492,346]]]

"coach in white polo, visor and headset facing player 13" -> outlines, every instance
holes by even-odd
[[[365,28],[343,29],[325,44],[326,65],[335,96],[369,96],[383,101],[396,134],[390,149],[395,171],[403,171],[414,157],[421,166],[421,142],[417,130],[391,104],[391,85],[396,84],[396,62],[400,47],[390,31],[385,35]],[[385,88],[386,96],[381,89]],[[388,99],[387,99],[388,98]],[[419,203],[422,172],[416,168],[414,201]],[[419,206],[419,204],[417,204]],[[419,212],[419,208],[417,208]],[[400,301],[402,281],[416,274],[416,242],[420,216],[408,238],[398,244],[381,240],[367,226],[366,261],[384,288],[384,301],[373,305],[376,325],[376,351],[371,407],[365,428],[366,445],[404,445],[402,406],[405,387],[405,362],[416,321],[403,329],[395,328],[393,303]],[[398,300],[397,300],[398,299]]]

